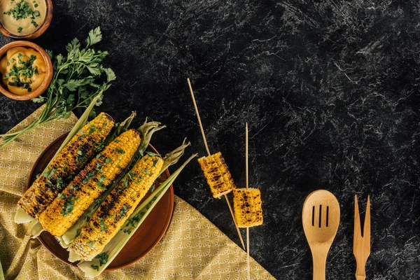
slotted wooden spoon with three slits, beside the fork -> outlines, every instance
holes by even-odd
[[[328,190],[316,190],[303,204],[302,224],[311,248],[314,280],[325,280],[328,251],[339,225],[339,203]]]

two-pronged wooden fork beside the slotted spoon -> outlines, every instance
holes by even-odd
[[[354,237],[353,255],[356,258],[356,279],[366,279],[366,261],[370,255],[370,197],[367,196],[367,206],[365,214],[365,225],[363,233],[360,229],[360,214],[357,203],[357,195],[354,197]]]

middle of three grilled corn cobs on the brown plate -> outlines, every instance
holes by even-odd
[[[64,235],[127,167],[139,145],[139,132],[127,130],[106,146],[39,216],[43,228]]]

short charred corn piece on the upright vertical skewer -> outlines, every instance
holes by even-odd
[[[261,192],[258,188],[233,190],[233,208],[239,228],[262,224]]]

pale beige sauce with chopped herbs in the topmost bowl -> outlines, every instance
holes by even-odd
[[[11,34],[27,35],[45,20],[45,0],[0,0],[0,22]]]

